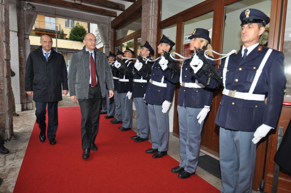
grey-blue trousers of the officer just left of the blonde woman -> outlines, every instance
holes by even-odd
[[[152,149],[168,151],[169,144],[169,111],[162,112],[162,105],[148,104],[148,118]]]

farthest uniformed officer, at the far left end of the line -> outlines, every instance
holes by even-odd
[[[109,51],[109,56],[107,56],[108,61],[109,62],[114,62],[115,61],[115,57],[116,57],[116,55],[113,54],[111,51]],[[114,67],[111,66],[111,72],[112,72],[112,75],[113,75],[113,73],[116,73],[117,70],[114,69]],[[113,78],[113,84],[115,83],[115,85],[116,85],[117,83],[116,83],[116,81],[114,82],[114,80],[116,80],[116,79]],[[107,115],[105,115],[104,117],[105,117],[105,119],[111,119],[115,115],[115,102],[114,102],[113,98],[109,99],[109,90],[108,90],[108,87],[107,87],[107,83],[106,83],[106,103],[107,103]]]

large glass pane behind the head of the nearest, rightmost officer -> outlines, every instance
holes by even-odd
[[[239,50],[243,45],[240,39],[241,21],[239,19],[239,15],[243,10],[247,8],[258,9],[270,17],[271,4],[271,0],[243,0],[226,6],[226,19],[224,22],[222,53],[228,53],[233,49]],[[269,24],[266,26],[266,29],[268,28]]]

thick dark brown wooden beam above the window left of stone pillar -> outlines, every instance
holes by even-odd
[[[118,17],[111,21],[111,28],[117,28],[122,23],[126,22],[133,15],[142,10],[143,1],[137,0],[131,6],[129,6],[126,11],[120,13]]]

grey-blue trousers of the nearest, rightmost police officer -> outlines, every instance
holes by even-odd
[[[219,162],[223,193],[251,193],[255,172],[257,144],[254,132],[220,127]]]

